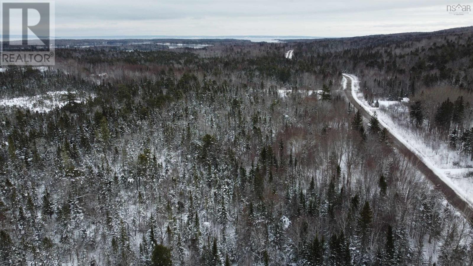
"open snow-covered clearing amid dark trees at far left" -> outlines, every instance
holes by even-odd
[[[68,103],[67,95],[76,94],[75,91],[48,91],[43,95],[17,97],[9,99],[0,99],[0,106],[19,107],[30,109],[32,112],[49,112],[56,106],[62,107]],[[94,98],[94,95],[89,95]],[[82,103],[87,100],[88,97],[77,97],[74,96],[74,102]]]

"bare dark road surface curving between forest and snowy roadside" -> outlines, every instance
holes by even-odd
[[[349,80],[349,82],[354,82],[353,78],[350,75],[343,74],[343,76]],[[371,115],[368,111],[353,98],[351,94],[351,86],[346,86],[345,95],[347,96],[350,103],[355,106],[357,110],[359,110],[360,114],[363,115],[366,119],[371,119]],[[383,128],[383,125],[379,125]],[[458,195],[457,192],[448,186],[445,181],[442,180],[431,168],[429,168],[423,160],[421,160],[414,152],[409,150],[406,145],[399,139],[397,139],[394,135],[390,134],[391,139],[393,140],[394,147],[405,156],[408,160],[412,162],[416,168],[424,174],[427,179],[429,179],[434,186],[440,190],[447,199],[448,203],[452,204],[460,213],[464,215],[464,217],[470,221],[473,221],[473,208],[470,206],[468,202],[466,202],[462,196]]]

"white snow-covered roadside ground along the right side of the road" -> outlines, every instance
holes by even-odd
[[[406,119],[393,119],[392,115],[383,111],[386,108],[373,108],[364,100],[361,91],[359,91],[358,77],[351,74],[343,74],[351,80],[351,95],[370,115],[376,112],[379,123],[385,127],[396,139],[417,154],[418,157],[429,167],[438,177],[450,186],[456,193],[473,207],[473,177],[468,177],[466,173],[473,171],[473,162],[469,162],[464,155],[450,149],[447,143],[432,142],[425,140],[420,133],[416,133],[407,127],[400,126]],[[380,106],[395,104],[392,101],[379,102]],[[400,104],[400,102],[396,102]],[[404,112],[407,112],[405,110]],[[398,121],[399,120],[399,121]],[[409,120],[407,120],[409,121]],[[434,143],[434,146],[432,146]],[[470,164],[469,164],[470,163]],[[463,168],[455,168],[460,165]]]

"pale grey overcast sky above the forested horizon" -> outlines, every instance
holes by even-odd
[[[57,36],[359,36],[473,25],[468,0],[56,0]]]

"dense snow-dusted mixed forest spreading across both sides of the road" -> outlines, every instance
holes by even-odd
[[[0,107],[0,264],[472,266],[473,221],[340,91],[357,73],[452,141],[471,127],[472,37],[71,45],[54,69],[0,72],[1,99],[70,92]]]

